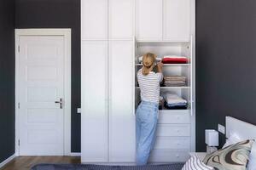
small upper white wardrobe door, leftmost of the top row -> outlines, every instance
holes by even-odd
[[[81,0],[82,40],[108,38],[108,0]]]

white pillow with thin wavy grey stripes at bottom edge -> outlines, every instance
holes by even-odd
[[[191,156],[182,170],[213,170],[213,167],[204,164],[197,156]]]

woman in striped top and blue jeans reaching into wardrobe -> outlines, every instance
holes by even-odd
[[[156,55],[143,55],[143,68],[137,71],[137,80],[141,89],[142,102],[136,113],[137,165],[146,165],[150,151],[154,146],[160,99],[160,82],[163,80],[162,66],[157,64],[158,73],[154,73]]]

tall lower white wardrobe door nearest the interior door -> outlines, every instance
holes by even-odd
[[[81,161],[108,161],[108,41],[82,42]]]

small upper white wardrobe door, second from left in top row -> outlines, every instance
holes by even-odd
[[[108,38],[134,37],[135,0],[108,0]]]

